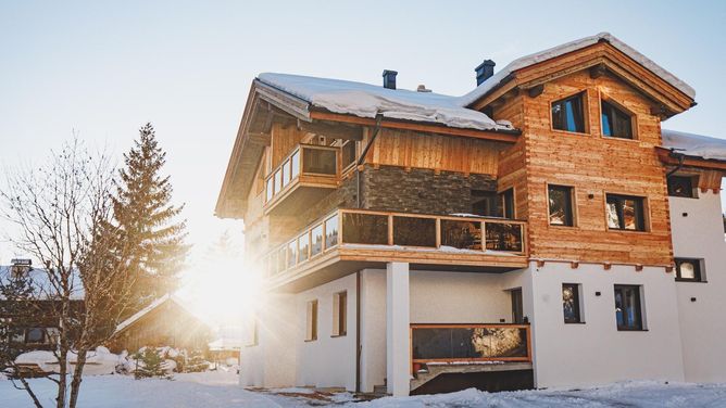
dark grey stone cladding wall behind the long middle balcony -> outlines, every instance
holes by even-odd
[[[396,166],[373,168],[361,174],[362,207],[415,214],[471,213],[472,190],[497,191],[497,180],[487,175]]]

